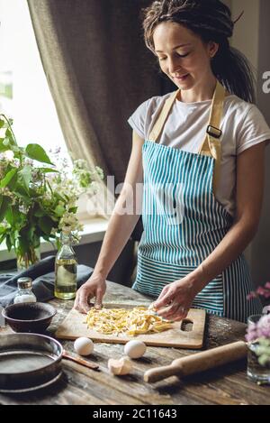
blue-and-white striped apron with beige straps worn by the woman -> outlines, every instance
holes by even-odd
[[[156,143],[180,90],[166,100],[143,145],[144,232],[138,249],[134,290],[158,297],[166,284],[196,269],[228,233],[233,218],[216,200],[220,178],[220,121],[225,89],[217,83],[210,122],[198,154]],[[262,311],[247,262],[240,255],[196,296],[193,308],[247,322]]]

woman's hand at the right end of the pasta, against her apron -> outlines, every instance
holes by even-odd
[[[164,287],[158,299],[154,301],[157,315],[175,322],[183,320],[192,306],[198,291],[190,275],[175,280]]]

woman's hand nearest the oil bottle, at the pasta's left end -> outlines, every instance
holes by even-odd
[[[106,291],[106,280],[99,275],[92,275],[76,292],[74,308],[80,313],[87,313],[91,307],[102,308]],[[94,304],[90,300],[95,298]]]

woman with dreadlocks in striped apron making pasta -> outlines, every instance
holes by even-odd
[[[270,130],[254,101],[247,60],[229,47],[229,8],[219,0],[155,1],[145,9],[147,47],[177,87],[130,116],[133,146],[125,187],[144,182],[143,225],[133,289],[156,298],[157,313],[181,320],[189,308],[246,322],[261,312],[243,252],[257,232]],[[146,141],[145,141],[146,140]],[[105,279],[138,222],[121,205],[94,274],[75,307],[100,307]],[[158,298],[157,298],[158,297]]]

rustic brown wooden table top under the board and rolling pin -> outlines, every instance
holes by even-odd
[[[108,282],[105,302],[148,304],[151,300],[134,290]],[[73,301],[54,299],[58,315],[49,326],[47,335],[53,336],[58,324],[67,316]],[[0,329],[0,335],[10,333],[10,328]],[[204,349],[244,339],[246,326],[226,318],[208,316]],[[73,352],[73,342],[61,341]],[[148,347],[146,357],[134,361],[132,374],[116,377],[107,370],[110,357],[121,357],[123,345],[96,344],[91,360],[100,365],[100,372],[63,360],[64,375],[60,381],[41,391],[20,395],[0,394],[0,404],[92,404],[92,405],[181,405],[226,404],[266,405],[270,403],[270,390],[249,382],[247,363],[229,363],[221,368],[179,380],[173,376],[155,384],[143,382],[143,373],[151,367],[171,363],[175,358],[195,351]]]

